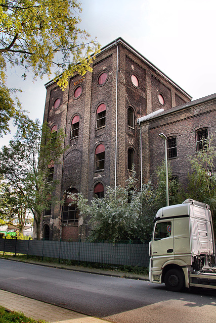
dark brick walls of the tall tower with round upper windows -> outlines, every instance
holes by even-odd
[[[105,75],[106,80],[101,83],[100,78],[103,79]],[[44,121],[48,121],[51,128],[55,125],[65,131],[64,146],[68,147],[61,164],[54,168],[54,178],[59,180],[55,195],[60,200],[65,199],[65,191],[70,189],[81,192],[91,200],[98,183],[104,187],[125,185],[131,173],[127,165],[128,149],[133,149],[140,182],[140,129],[137,119],[161,107],[167,112],[177,104],[191,100],[183,89],[121,38],[102,48],[93,63],[93,73],[87,72],[83,77],[74,75],[65,91],[52,81],[46,88]],[[54,103],[57,99],[60,104],[56,107]],[[105,104],[106,121],[97,128],[100,104]],[[134,113],[132,126],[128,126],[128,107]],[[73,120],[79,120],[79,127],[78,135],[71,138]],[[143,129],[146,129],[143,131],[142,150],[145,179],[153,172],[152,161],[156,163],[160,158],[159,154],[154,155],[158,145],[161,145],[162,157],[162,143],[159,141],[156,144],[151,139],[157,135],[156,124],[152,129],[149,127],[150,123],[143,125]],[[175,126],[172,127],[169,133],[177,133]],[[95,155],[100,144],[104,146],[104,168],[96,171]],[[44,217],[41,238],[45,224],[49,224],[50,240],[84,240],[88,226],[84,225],[83,219],[65,224],[62,214],[62,206],[56,205],[52,208],[51,216]]]

